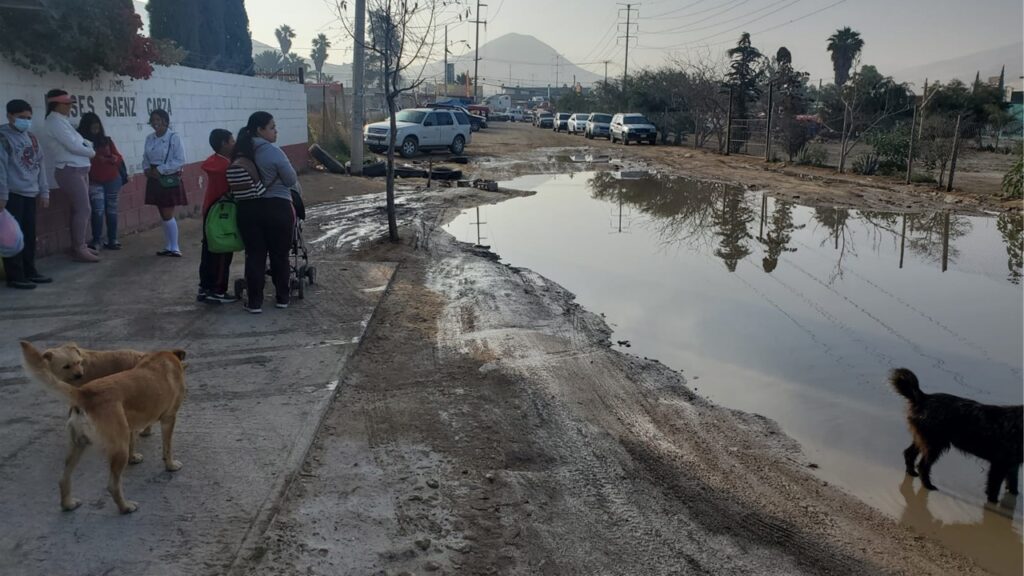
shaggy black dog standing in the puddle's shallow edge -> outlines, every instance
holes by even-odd
[[[953,446],[957,450],[984,458],[991,463],[985,495],[996,502],[999,486],[1017,494],[1018,476],[1024,462],[1024,406],[990,406],[949,394],[925,394],[918,377],[906,368],[897,368],[889,381],[908,402],[906,421],[913,443],[903,451],[906,474],[918,476],[929,490],[931,471],[942,453]],[[921,455],[921,464],[914,462]]]

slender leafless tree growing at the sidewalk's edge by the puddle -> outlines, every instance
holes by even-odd
[[[388,238],[397,242],[398,221],[394,205],[394,147],[397,125],[398,98],[404,92],[416,90],[424,82],[423,70],[437,45],[436,26],[440,13],[461,0],[367,0],[370,36],[373,41],[364,47],[381,60],[384,78],[384,99],[387,101],[390,129],[387,147],[387,223]],[[352,16],[348,13],[348,0],[334,0],[335,12],[345,31],[352,34]],[[418,67],[418,70],[416,68]],[[412,72],[416,72],[412,75]],[[361,126],[353,126],[360,130]]]

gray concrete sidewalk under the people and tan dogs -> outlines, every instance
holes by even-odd
[[[318,282],[306,299],[275,310],[268,286],[254,316],[241,303],[196,302],[199,222],[182,221],[181,237],[183,258],[155,256],[155,230],[98,264],[41,260],[51,285],[0,288],[0,574],[224,573],[269,522],[395,270],[314,253]],[[159,427],[142,439],[145,460],[124,481],[138,511],[118,513],[95,448],[74,476],[83,505],[60,510],[67,407],[24,377],[19,339],[187,351],[175,430],[184,466],[164,470]]]

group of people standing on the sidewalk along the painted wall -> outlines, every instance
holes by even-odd
[[[44,158],[54,168],[55,187],[66,195],[71,211],[71,248],[77,262],[100,261],[99,251],[120,250],[118,204],[121,189],[129,180],[124,156],[92,113],[82,115],[78,126],[71,121],[74,100],[60,89],[46,93],[45,138],[32,130],[33,109],[23,99],[7,102],[7,123],[0,125],[0,210],[6,209],[17,221],[25,248],[13,257],[3,258],[7,286],[30,290],[52,279],[36,268],[36,222],[38,210],[47,209],[50,182]],[[154,110],[148,118],[153,132],[145,138],[142,172],[145,175],[145,204],[157,208],[164,233],[164,247],[158,256],[181,257],[175,209],[188,204],[181,180],[185,165],[184,146],[170,129],[170,115]],[[238,227],[245,244],[248,312],[262,312],[267,259],[276,290],[278,307],[290,300],[289,249],[295,224],[292,191],[298,177],[294,167],[276,145],[273,117],[266,112],[250,116],[238,134],[215,129],[210,134],[213,155],[202,164],[207,173],[203,217],[210,207],[229,194],[228,167],[240,158],[255,165],[261,188],[259,197],[238,202]],[[105,229],[105,230],[104,230]],[[91,233],[91,234],[90,234]],[[208,250],[204,234],[197,299],[231,302],[227,295],[231,254]]]

